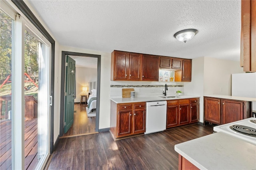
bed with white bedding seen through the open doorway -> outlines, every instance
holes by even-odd
[[[87,103],[88,106],[86,107],[86,112],[88,117],[96,116],[96,106],[97,106],[97,95],[96,89],[92,89],[92,94],[88,97]]]

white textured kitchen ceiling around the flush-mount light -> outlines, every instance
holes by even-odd
[[[182,58],[239,61],[240,1],[25,1],[61,45],[111,53],[114,49]],[[194,28],[184,43],[173,35]]]

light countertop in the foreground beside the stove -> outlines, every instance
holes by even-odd
[[[174,149],[199,169],[256,169],[256,145],[224,132],[176,144]]]

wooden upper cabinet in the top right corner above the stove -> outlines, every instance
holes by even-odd
[[[256,72],[256,1],[241,1],[240,66],[244,71]]]

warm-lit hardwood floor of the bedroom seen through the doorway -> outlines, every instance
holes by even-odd
[[[74,123],[62,138],[96,132],[96,117],[87,117],[86,107],[85,104],[74,105]]]

